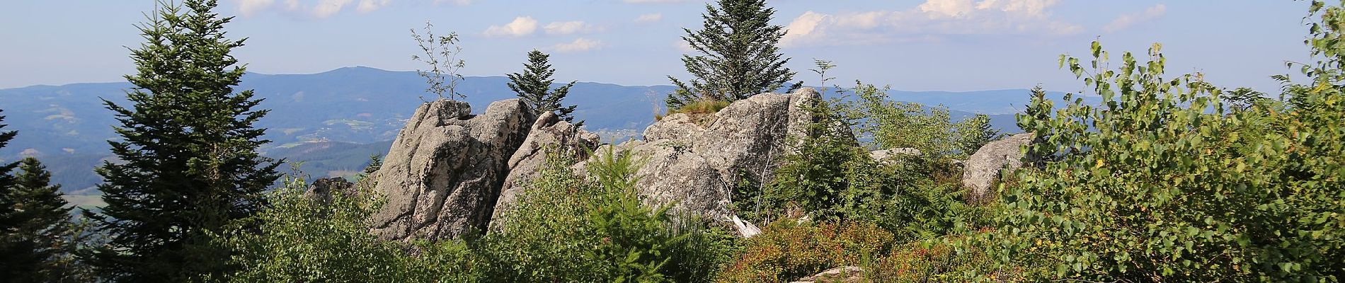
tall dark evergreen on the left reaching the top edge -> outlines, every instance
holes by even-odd
[[[93,252],[100,274],[116,282],[184,282],[219,274],[227,251],[207,231],[245,219],[266,203],[278,174],[257,148],[268,110],[252,90],[234,91],[243,67],[229,52],[243,40],[225,38],[233,17],[211,12],[217,0],[164,3],[140,25],[147,40],[132,51],[133,105],[104,99],[116,113],[121,139],[109,141],[121,162],[97,169],[108,203],[86,212],[110,239]]]

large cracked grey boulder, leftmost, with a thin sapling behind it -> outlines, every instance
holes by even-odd
[[[537,119],[518,99],[469,114],[465,102],[421,105],[383,166],[360,181],[387,197],[373,217],[381,239],[437,240],[486,229],[508,161]]]

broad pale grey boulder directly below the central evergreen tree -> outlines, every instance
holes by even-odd
[[[672,114],[650,125],[644,141],[616,150],[631,150],[643,160],[636,186],[647,203],[729,220],[734,215],[732,188],[769,182],[781,157],[794,150],[787,137],[816,122],[808,109],[820,99],[812,89],[802,89],[759,94],[718,113],[699,114],[707,117]]]

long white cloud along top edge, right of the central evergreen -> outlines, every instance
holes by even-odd
[[[905,11],[845,13],[804,12],[795,17],[780,43],[868,44],[878,42],[942,40],[948,35],[1040,35],[1083,32],[1083,27],[1056,20],[1059,0],[925,0]]]

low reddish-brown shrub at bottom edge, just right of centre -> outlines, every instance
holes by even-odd
[[[748,239],[718,282],[791,282],[833,267],[859,266],[886,252],[892,233],[868,223],[772,223]]]

